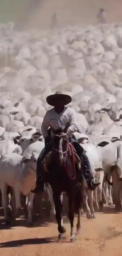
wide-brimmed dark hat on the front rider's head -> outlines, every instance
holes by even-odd
[[[46,98],[46,101],[50,106],[55,106],[55,100],[57,99],[62,100],[64,102],[64,106],[69,104],[72,100],[71,96],[62,94],[61,92],[56,92],[55,94],[49,95]]]

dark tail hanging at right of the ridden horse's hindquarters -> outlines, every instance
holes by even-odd
[[[74,212],[77,213],[78,209],[82,208],[83,203],[83,194],[82,194],[82,185],[75,191],[75,198],[74,198]]]

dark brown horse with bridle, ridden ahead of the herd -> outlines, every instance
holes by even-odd
[[[66,192],[69,202],[68,218],[71,224],[70,241],[74,242],[76,240],[74,233],[74,213],[77,213],[77,233],[81,229],[82,163],[72,143],[64,136],[61,129],[54,135],[51,151],[42,161],[42,165],[41,184],[44,186],[44,183],[48,182],[52,188],[56,211],[55,217],[58,222],[58,238],[64,238],[63,234],[66,232],[63,226],[63,206],[60,199],[61,193]]]

